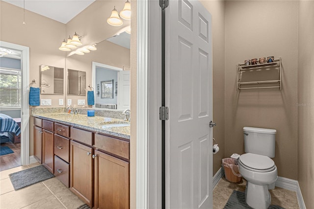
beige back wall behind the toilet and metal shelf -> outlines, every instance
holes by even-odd
[[[276,129],[278,176],[297,180],[298,1],[226,1],[225,156],[243,154],[244,126]],[[283,89],[236,92],[235,65],[282,57]]]

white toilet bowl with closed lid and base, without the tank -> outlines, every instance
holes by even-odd
[[[239,157],[239,173],[247,181],[245,201],[254,209],[267,209],[271,203],[268,186],[277,180],[274,161],[263,155],[246,153]]]

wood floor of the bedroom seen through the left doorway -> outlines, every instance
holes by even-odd
[[[21,166],[21,143],[1,143],[1,147],[7,146],[14,153],[0,156],[0,171]]]

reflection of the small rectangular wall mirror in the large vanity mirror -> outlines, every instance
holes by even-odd
[[[68,94],[86,95],[86,72],[68,69]]]

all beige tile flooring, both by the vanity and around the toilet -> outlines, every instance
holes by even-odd
[[[0,172],[0,209],[77,209],[84,203],[56,178],[14,191],[9,174],[39,163]],[[245,191],[245,180],[230,183],[222,178],[213,190],[213,209],[223,209],[233,190]],[[276,187],[270,190],[272,205],[299,209],[296,192]]]

